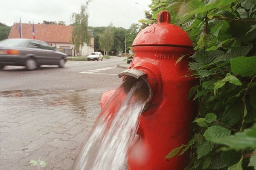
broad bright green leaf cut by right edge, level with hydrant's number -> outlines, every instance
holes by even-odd
[[[237,57],[230,59],[231,70],[234,74],[251,77],[256,74],[256,56]]]

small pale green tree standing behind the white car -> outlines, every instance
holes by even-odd
[[[113,43],[113,32],[111,31],[111,26],[109,26],[99,37],[99,46],[104,51],[104,55],[108,55],[108,51],[111,50]]]

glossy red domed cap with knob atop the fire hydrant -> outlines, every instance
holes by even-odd
[[[161,11],[157,23],[146,27],[135,38],[132,46],[177,46],[193,48],[188,34],[180,27],[170,24],[168,11]]]

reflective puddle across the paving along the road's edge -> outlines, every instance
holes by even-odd
[[[0,92],[0,112],[98,114],[103,90],[17,90]],[[93,116],[95,117],[95,116]]]

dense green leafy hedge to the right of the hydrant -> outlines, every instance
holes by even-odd
[[[256,1],[153,0],[150,7],[145,23],[168,10],[195,45],[193,137],[167,158],[190,148],[186,170],[256,170]]]

